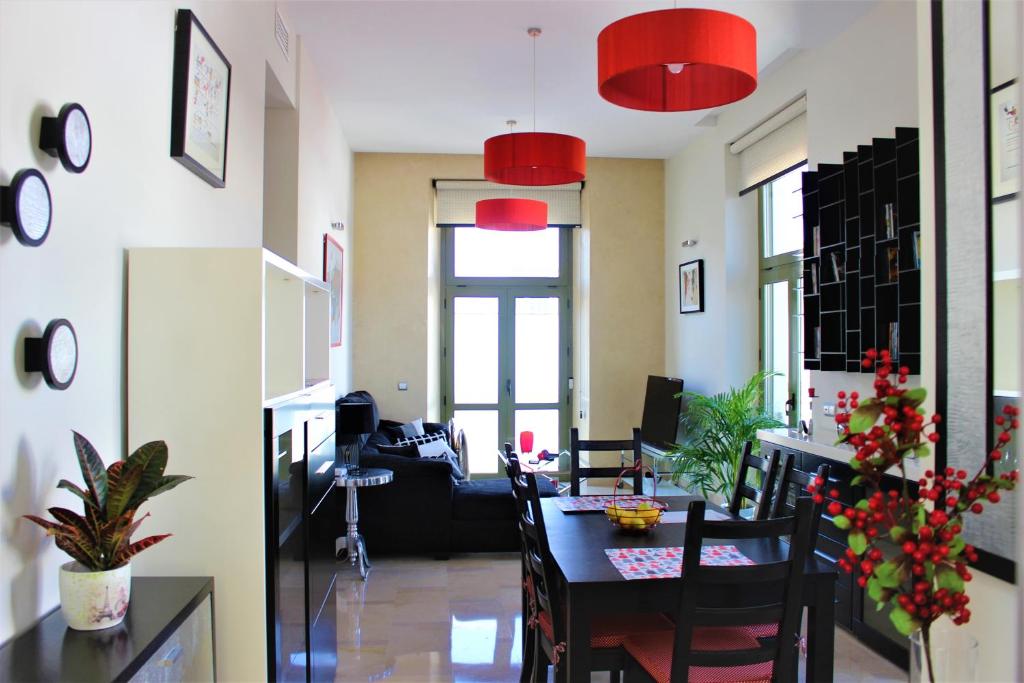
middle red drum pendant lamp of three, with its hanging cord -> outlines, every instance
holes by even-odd
[[[483,143],[483,177],[505,185],[560,185],[587,177],[587,143],[562,133],[537,131],[537,38],[541,30],[527,29],[534,39],[532,133],[497,135]],[[513,123],[513,122],[509,122]]]

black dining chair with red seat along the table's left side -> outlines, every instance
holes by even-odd
[[[537,489],[537,476],[520,472],[512,479],[516,499],[519,530],[522,535],[524,565],[526,567],[527,620],[534,631],[532,679],[548,680],[548,667],[554,666],[555,680],[565,679],[561,665],[566,653],[567,614],[562,604],[558,584],[558,569],[548,545],[548,535],[541,511],[541,497]],[[595,617],[591,623],[591,668],[593,671],[611,672],[612,681],[620,679],[626,664],[623,643],[631,635],[668,632],[672,622],[662,614],[609,614]],[[524,657],[525,659],[525,657]],[[523,665],[525,672],[525,663]]]

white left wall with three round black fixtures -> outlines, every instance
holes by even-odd
[[[273,42],[273,3],[191,3],[232,66],[227,186],[215,189],[168,156],[178,6],[0,3],[0,182],[7,184],[20,168],[39,168],[54,198],[53,227],[42,247],[23,247],[0,227],[0,348],[6,358],[0,362],[0,642],[57,604],[57,567],[67,557],[18,516],[53,505],[77,507],[55,489],[58,479],[80,476],[71,430],[89,437],[108,463],[138,445],[124,443],[130,410],[124,250],[261,244],[265,72],[269,65],[298,101],[296,55],[293,50],[287,60]],[[303,80],[303,89],[312,86]],[[92,122],[93,156],[82,175],[65,172],[36,147],[40,117],[68,101],[81,102]],[[349,215],[350,155],[323,101],[309,112],[300,137],[316,140],[319,151],[300,161],[307,178],[300,200],[313,208],[299,216],[299,251],[300,264],[318,272],[313,252],[322,238],[305,230],[322,233],[322,214],[332,220]],[[78,376],[63,392],[19,370],[25,336],[60,316],[75,325],[80,346]],[[350,349],[349,343],[333,356],[340,390],[349,388]],[[176,472],[169,445],[169,471]],[[145,528],[159,532],[161,520],[147,520]]]

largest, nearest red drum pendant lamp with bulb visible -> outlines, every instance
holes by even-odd
[[[613,104],[646,112],[719,106],[754,92],[757,56],[757,31],[735,14],[643,12],[598,35],[598,91]]]

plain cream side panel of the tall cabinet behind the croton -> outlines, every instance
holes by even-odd
[[[138,575],[212,575],[218,678],[266,676],[261,252],[132,250],[128,440],[196,477],[146,504]],[[255,596],[255,599],[254,599]]]

